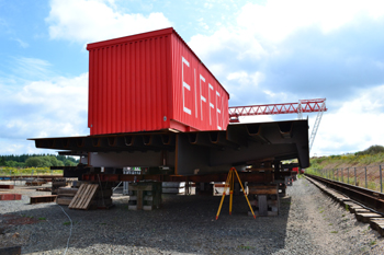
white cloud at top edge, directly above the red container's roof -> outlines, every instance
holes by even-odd
[[[53,0],[50,8],[46,22],[53,39],[92,43],[171,26],[162,13],[121,13],[114,1]]]

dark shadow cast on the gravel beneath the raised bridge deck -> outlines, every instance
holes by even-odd
[[[74,228],[69,252],[170,254],[271,254],[284,248],[291,197],[281,198],[278,217],[248,216],[244,196],[234,197],[229,216],[226,197],[215,220],[221,197],[163,195],[162,207],[129,211],[127,199],[114,200],[110,210],[69,210]],[[39,219],[35,224],[9,227],[29,234],[23,253],[64,252],[70,232],[66,215],[56,204],[23,205],[20,216]],[[81,251],[81,253],[80,253]]]

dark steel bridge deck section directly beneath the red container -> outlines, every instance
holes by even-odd
[[[228,125],[227,130],[113,134],[103,136],[34,138],[36,148],[87,154],[92,166],[174,167],[190,175],[228,171],[252,162],[297,159],[309,166],[306,119]]]

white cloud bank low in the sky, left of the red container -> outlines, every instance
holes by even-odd
[[[0,102],[0,140],[9,140],[9,146],[0,148],[0,154],[31,152],[34,143],[27,138],[88,135],[87,95],[88,73],[30,81],[16,92],[8,91]]]

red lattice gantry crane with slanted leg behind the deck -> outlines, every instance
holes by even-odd
[[[240,116],[274,115],[274,114],[298,114],[303,118],[303,113],[318,113],[309,138],[309,151],[314,143],[323,113],[327,111],[326,98],[301,100],[297,103],[264,104],[229,107],[229,123],[239,123]]]

